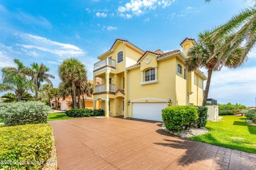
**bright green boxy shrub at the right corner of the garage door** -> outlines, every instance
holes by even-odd
[[[162,111],[162,119],[166,129],[170,131],[180,131],[195,125],[198,119],[198,108],[195,106],[172,106],[166,107]]]

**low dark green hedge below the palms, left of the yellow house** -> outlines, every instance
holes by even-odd
[[[69,117],[104,116],[103,109],[75,108],[65,112]]]

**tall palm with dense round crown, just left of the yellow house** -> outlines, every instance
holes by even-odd
[[[86,75],[85,65],[75,58],[64,60],[59,66],[59,76],[62,82],[71,82],[73,107],[77,108],[76,86],[79,79]],[[79,97],[78,97],[79,98]]]

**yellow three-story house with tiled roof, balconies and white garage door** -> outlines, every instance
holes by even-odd
[[[194,39],[180,50],[144,52],[127,40],[116,39],[94,64],[94,108],[106,117],[123,115],[162,121],[162,109],[175,105],[202,105],[203,72],[187,72],[183,61]],[[101,82],[100,85],[98,82]]]

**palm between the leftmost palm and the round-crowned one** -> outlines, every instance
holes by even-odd
[[[47,73],[49,67],[45,66],[43,63],[38,65],[37,63],[31,64],[31,79],[35,85],[35,100],[37,101],[39,88],[42,86],[42,82],[47,82],[52,86],[50,78],[54,79],[54,75]]]

